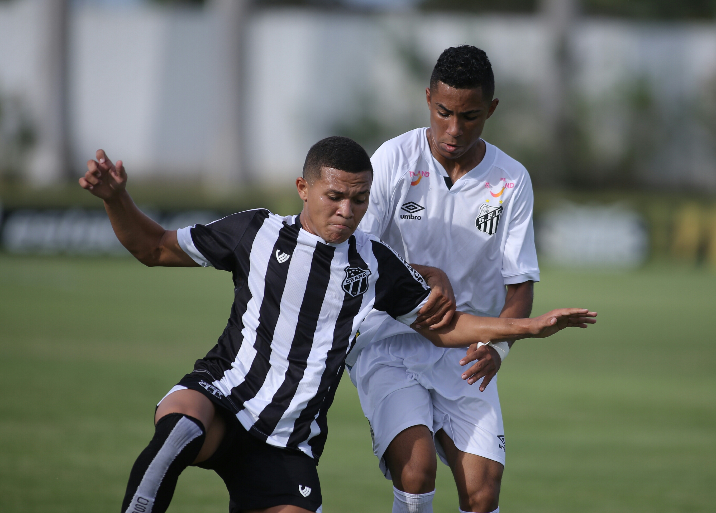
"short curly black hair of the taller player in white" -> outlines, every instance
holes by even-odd
[[[430,89],[437,82],[455,87],[455,89],[483,89],[486,100],[495,94],[495,75],[488,54],[469,44],[450,47],[437,58],[430,75]]]

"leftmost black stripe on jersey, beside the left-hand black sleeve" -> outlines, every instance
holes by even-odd
[[[243,342],[243,314],[246,313],[248,301],[251,301],[251,289],[246,285],[246,277],[251,271],[251,247],[256,233],[268,218],[269,210],[257,210],[241,236],[241,244],[234,250],[236,268],[232,270],[234,301],[231,315],[216,346],[203,359],[197,360],[194,366],[194,370],[208,371],[214,381],[223,378],[224,373],[231,368]]]

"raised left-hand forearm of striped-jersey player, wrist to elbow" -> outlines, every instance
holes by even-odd
[[[105,210],[120,243],[145,265],[160,265],[167,231],[139,210],[126,190],[105,200]]]

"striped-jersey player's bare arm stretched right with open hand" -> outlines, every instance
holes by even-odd
[[[596,312],[586,308],[559,308],[538,317],[511,319],[477,317],[455,312],[448,326],[437,330],[413,329],[438,347],[468,347],[475,342],[545,338],[563,328],[586,328],[596,323]]]

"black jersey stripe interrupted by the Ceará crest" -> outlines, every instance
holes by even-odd
[[[348,263],[350,267],[368,268],[365,260],[356,249],[354,235],[351,235],[348,240]],[[349,293],[344,293],[343,305],[333,330],[333,345],[326,354],[326,369],[321,374],[321,383],[314,398],[306,404],[306,408],[301,411],[301,415],[294,422],[294,431],[289,436],[289,441],[286,444],[289,447],[295,447],[306,440],[311,435],[311,424],[316,414],[318,414],[316,423],[319,425],[321,432],[309,440],[311,452],[316,460],[321,456],[326,444],[326,436],[328,436],[326,411],[328,411],[333,402],[333,396],[343,375],[344,362],[353,331],[353,319],[358,315],[362,302],[363,295],[352,296]],[[324,394],[326,395],[324,396]]]

